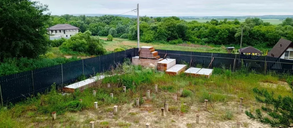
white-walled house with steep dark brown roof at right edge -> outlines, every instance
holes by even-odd
[[[292,41],[281,38],[277,44],[268,52],[270,57],[282,59],[293,59],[293,44]]]

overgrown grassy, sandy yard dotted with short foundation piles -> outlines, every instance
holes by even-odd
[[[210,78],[194,78],[184,74],[169,76],[150,68],[123,64],[110,73],[121,75],[106,77],[84,92],[62,95],[53,89],[24,102],[2,106],[0,127],[89,127],[91,121],[98,128],[136,128],[145,127],[146,123],[158,128],[231,128],[236,127],[236,122],[241,122],[241,127],[268,127],[244,114],[264,105],[255,101],[252,89],[273,91],[275,97],[292,95],[288,84],[278,77],[224,69],[214,69]],[[111,84],[110,88],[107,83]],[[158,92],[154,91],[155,84]],[[122,86],[126,86],[126,93]],[[92,95],[93,90],[97,91],[96,97]],[[150,90],[149,98],[147,90]],[[114,94],[113,98],[110,93]],[[174,94],[178,95],[177,102],[173,100]],[[240,97],[244,98],[241,113],[238,112]],[[139,106],[135,106],[136,98]],[[207,109],[205,99],[209,100]],[[98,102],[98,109],[94,109],[93,102]],[[169,104],[169,111],[163,117],[161,107],[165,103]],[[113,113],[115,105],[118,113]],[[51,118],[53,111],[57,112],[56,120]],[[197,114],[199,124],[195,123]]]

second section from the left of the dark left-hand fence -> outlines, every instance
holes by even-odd
[[[33,70],[35,94],[50,91],[51,85],[56,83],[56,88],[62,87],[61,64]]]

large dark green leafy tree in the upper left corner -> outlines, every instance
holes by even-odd
[[[0,61],[7,57],[38,57],[49,44],[47,5],[30,0],[0,1]]]

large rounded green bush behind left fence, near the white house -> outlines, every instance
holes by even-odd
[[[90,31],[84,33],[79,32],[78,34],[71,36],[70,39],[61,45],[60,49],[65,51],[83,52],[90,55],[103,55],[106,52],[99,37],[91,36]]]

